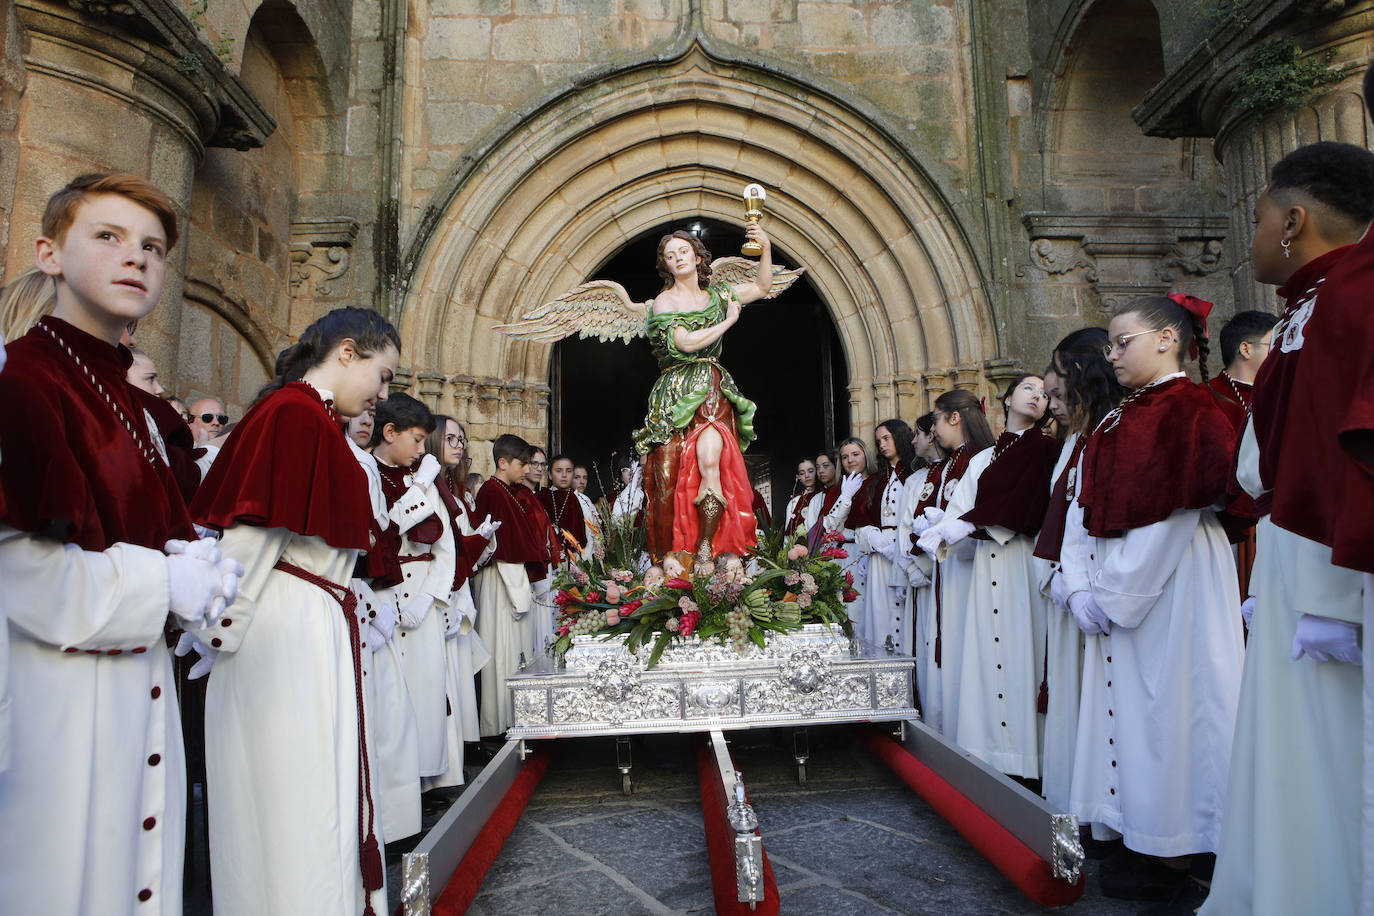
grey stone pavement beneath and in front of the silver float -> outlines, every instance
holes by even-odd
[[[628,798],[611,739],[559,742],[469,912],[713,913],[695,740],[636,739]],[[1051,912],[1028,901],[845,729],[812,729],[805,787],[790,742],[785,729],[731,737],[783,913]],[[1088,862],[1088,890],[1068,912],[1107,916],[1140,906],[1103,898],[1096,864]]]

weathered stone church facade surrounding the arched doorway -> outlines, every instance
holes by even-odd
[[[240,415],[293,335],[370,304],[401,328],[398,385],[474,442],[544,439],[550,349],[492,325],[658,225],[739,224],[760,181],[866,435],[1041,365],[1142,293],[1187,290],[1217,320],[1272,308],[1249,210],[1294,146],[1369,141],[1370,8],[15,0],[0,280],[65,180],[140,172],[188,222],[139,334],[169,389]],[[1296,114],[1241,111],[1245,55],[1275,37],[1334,49],[1345,81]]]

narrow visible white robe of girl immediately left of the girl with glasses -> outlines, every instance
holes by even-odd
[[[1058,481],[1073,455],[1079,434],[1073,433],[1059,449],[1059,460],[1054,466],[1054,475]],[[1077,499],[1077,474],[1074,485],[1069,489],[1068,499]],[[1073,622],[1069,611],[1054,603],[1051,599],[1052,581],[1061,575],[1059,563],[1033,560],[1036,577],[1040,584],[1040,595],[1046,599],[1048,608],[1047,636],[1046,636],[1046,667],[1044,677],[1050,688],[1050,705],[1041,718],[1040,740],[1040,794],[1059,812],[1069,810],[1069,792],[1073,786],[1073,751],[1079,736],[1079,695],[1083,687],[1083,630]],[[1084,577],[1087,573],[1084,571]],[[1085,581],[1085,580],[1084,580]],[[1085,585],[1084,585],[1085,588]]]

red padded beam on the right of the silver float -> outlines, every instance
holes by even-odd
[[[987,812],[970,802],[934,770],[907,753],[901,744],[875,728],[855,728],[855,735],[878,759],[901,777],[940,817],[949,821],[993,868],[1007,876],[1022,894],[1041,906],[1063,906],[1083,897],[1084,878],[1070,884],[1054,876],[1050,862],[1013,836]]]

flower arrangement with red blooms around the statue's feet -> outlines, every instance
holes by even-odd
[[[812,555],[796,534],[774,533],[745,560],[723,553],[694,564],[686,552],[669,553],[662,566],[638,570],[636,533],[609,525],[602,556],[567,564],[554,580],[558,607],[556,652],[574,636],[625,637],[629,651],[653,644],[647,666],[658,663],[672,640],[716,639],[743,651],[764,645],[769,632],[798,630],[807,623],[840,626],[853,636],[845,600],[853,600],[853,575],[835,560],[846,559],[831,534]]]

